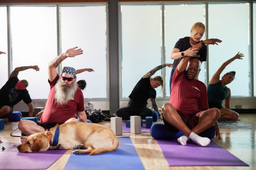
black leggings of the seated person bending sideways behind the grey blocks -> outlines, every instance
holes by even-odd
[[[152,117],[153,111],[145,106],[139,106],[132,100],[129,100],[128,106],[116,110],[116,115],[121,117],[122,120],[130,120],[130,116],[140,116],[141,119]]]

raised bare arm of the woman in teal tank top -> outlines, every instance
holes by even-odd
[[[232,58],[227,60],[225,63],[223,63],[221,65],[221,67],[219,67],[219,69],[215,72],[215,74],[213,75],[213,77],[210,80],[209,84],[218,83],[219,75],[221,75],[222,71],[227,67],[227,65],[229,65],[232,61],[234,61],[236,59],[243,60],[243,57],[244,57],[243,53],[238,52],[235,56],[233,56]]]

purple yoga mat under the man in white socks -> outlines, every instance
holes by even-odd
[[[170,140],[157,143],[169,166],[249,166],[213,141],[207,147],[195,143],[182,146]]]

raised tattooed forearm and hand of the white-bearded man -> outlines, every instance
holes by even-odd
[[[57,76],[57,67],[60,63],[62,63],[63,60],[68,57],[81,55],[83,53],[83,50],[76,48],[77,47],[74,47],[73,49],[68,49],[65,53],[62,53],[61,55],[55,57],[54,60],[50,61],[50,63],[48,64],[48,77],[50,81],[54,80],[54,78]]]

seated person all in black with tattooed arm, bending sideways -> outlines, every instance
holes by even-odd
[[[155,103],[155,98],[157,92],[155,88],[162,86],[163,87],[163,78],[160,76],[151,78],[157,70],[162,69],[163,67],[171,67],[172,64],[163,64],[155,67],[146,75],[144,75],[140,81],[133,88],[132,93],[129,95],[129,103],[127,107],[120,108],[116,110],[116,115],[122,117],[123,120],[130,120],[130,116],[138,115],[144,120],[146,117],[152,117],[153,112],[147,107],[148,99],[151,98],[152,107],[154,110],[158,111],[157,103]]]

